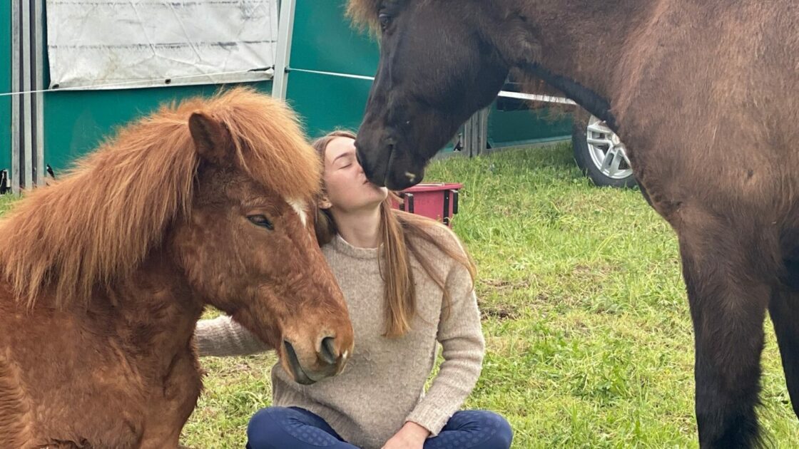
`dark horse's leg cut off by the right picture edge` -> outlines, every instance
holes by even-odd
[[[790,274],[797,276],[799,273]],[[774,292],[769,315],[774,324],[774,333],[777,334],[793,412],[799,417],[799,290],[781,288]]]

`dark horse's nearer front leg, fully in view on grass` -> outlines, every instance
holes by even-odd
[[[742,239],[738,229],[714,226],[712,217],[701,218],[693,228],[678,228],[694,321],[699,444],[753,447],[760,443],[754,409],[771,288],[757,274],[764,260],[743,248],[753,240]]]

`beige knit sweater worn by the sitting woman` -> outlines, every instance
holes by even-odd
[[[437,231],[447,243],[454,234]],[[322,248],[347,300],[355,350],[344,372],[309,386],[292,381],[280,364],[272,368],[272,405],[303,407],[320,415],[342,438],[357,447],[380,448],[406,421],[437,435],[461,407],[479,377],[484,341],[474,290],[465,268],[443,252],[423,244],[443,274],[451,295],[443,312],[441,289],[411,260],[417,284],[417,314],[405,336],[384,332],[384,283],[378,250],[356,248],[340,236]],[[201,356],[233,356],[267,350],[227,316],[197,324]],[[437,342],[443,364],[425,394],[435,363]]]

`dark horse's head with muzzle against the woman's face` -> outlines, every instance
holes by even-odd
[[[376,185],[404,189],[421,181],[427,161],[501,89],[508,66],[479,32],[491,20],[479,3],[350,3],[356,20],[380,28],[380,66],[356,141]]]

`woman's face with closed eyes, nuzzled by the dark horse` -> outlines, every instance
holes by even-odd
[[[388,196],[388,189],[366,179],[356,159],[354,144],[349,137],[336,137],[324,149],[324,188],[331,209],[343,213],[376,209]]]

